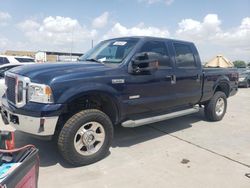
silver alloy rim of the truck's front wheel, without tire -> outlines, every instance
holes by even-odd
[[[77,131],[74,138],[74,147],[79,154],[88,156],[98,152],[104,140],[103,126],[98,122],[88,122]]]

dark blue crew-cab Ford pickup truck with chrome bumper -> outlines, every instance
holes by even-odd
[[[191,42],[124,37],[105,40],[77,63],[17,67],[5,75],[3,121],[57,140],[79,166],[106,156],[114,126],[137,127],[197,112],[223,118],[238,88],[235,69],[203,69]]]

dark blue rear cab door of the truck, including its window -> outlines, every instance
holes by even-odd
[[[176,105],[196,104],[201,98],[202,69],[192,43],[172,42],[175,60]]]

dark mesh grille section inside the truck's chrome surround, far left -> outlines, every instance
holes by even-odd
[[[5,83],[7,86],[7,99],[13,104],[16,104],[16,78],[5,76]]]

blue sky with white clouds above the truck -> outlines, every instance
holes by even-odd
[[[126,35],[193,41],[203,61],[250,62],[250,1],[0,0],[0,51],[85,52],[92,39]]]

